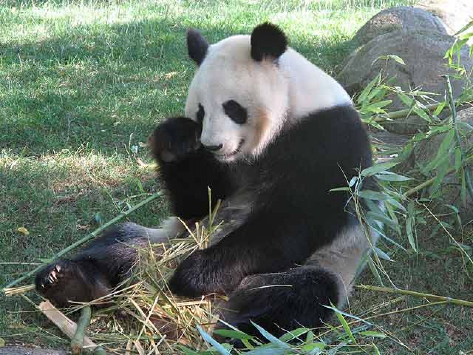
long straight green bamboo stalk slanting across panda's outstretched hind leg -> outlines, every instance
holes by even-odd
[[[65,249],[62,249],[59,253],[57,253],[56,255],[54,255],[53,259],[52,260],[56,260],[60,257],[62,257],[63,255],[69,253],[71,250],[81,246],[82,244],[88,242],[89,240],[95,238],[100,232],[102,232],[104,229],[110,227],[111,225],[115,224],[116,222],[119,222],[121,221],[123,218],[125,218],[126,216],[128,216],[130,213],[133,213],[135,212],[136,210],[138,210],[140,207],[144,206],[145,204],[148,204],[149,202],[155,200],[156,198],[158,198],[159,196],[161,196],[161,192],[157,192],[156,194],[153,194],[151,196],[149,196],[147,199],[141,201],[139,204],[136,204],[134,205],[133,207],[131,207],[129,210],[125,211],[125,212],[122,212],[120,213],[118,216],[116,216],[115,218],[111,219],[110,221],[106,222],[105,224],[103,224],[102,226],[100,226],[99,228],[97,228],[95,231],[93,231],[92,233],[89,233],[87,236],[85,236],[84,238],[82,238],[81,240],[78,240],[76,241],[75,243],[71,244],[69,247],[65,248]],[[8,289],[8,288],[11,288],[12,286],[18,284],[19,282],[25,280],[26,278],[32,276],[32,275],[35,275],[38,271],[41,271],[44,269],[44,267],[46,267],[48,263],[43,263],[41,264],[40,266],[36,267],[35,269],[27,272],[25,275],[21,276],[20,278],[10,282],[9,284],[7,284],[5,286],[5,288],[3,289],[3,291],[5,291],[5,289]]]

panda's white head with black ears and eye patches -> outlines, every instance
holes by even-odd
[[[202,124],[201,143],[222,161],[256,157],[280,131],[288,109],[288,78],[279,66],[284,33],[264,23],[251,36],[209,45],[187,33],[199,66],[189,88],[186,116]]]

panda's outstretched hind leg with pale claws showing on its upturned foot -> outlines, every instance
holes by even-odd
[[[46,266],[36,275],[36,290],[59,307],[103,297],[131,275],[139,248],[175,238],[182,228],[177,222],[169,219],[161,229],[134,223],[117,225],[70,259]]]

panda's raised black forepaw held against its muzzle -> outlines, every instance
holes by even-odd
[[[197,151],[200,135],[200,124],[186,117],[172,117],[158,125],[148,142],[156,159],[172,162]]]

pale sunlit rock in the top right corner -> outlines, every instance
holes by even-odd
[[[415,7],[438,16],[449,35],[454,35],[473,18],[472,0],[420,0]]]

